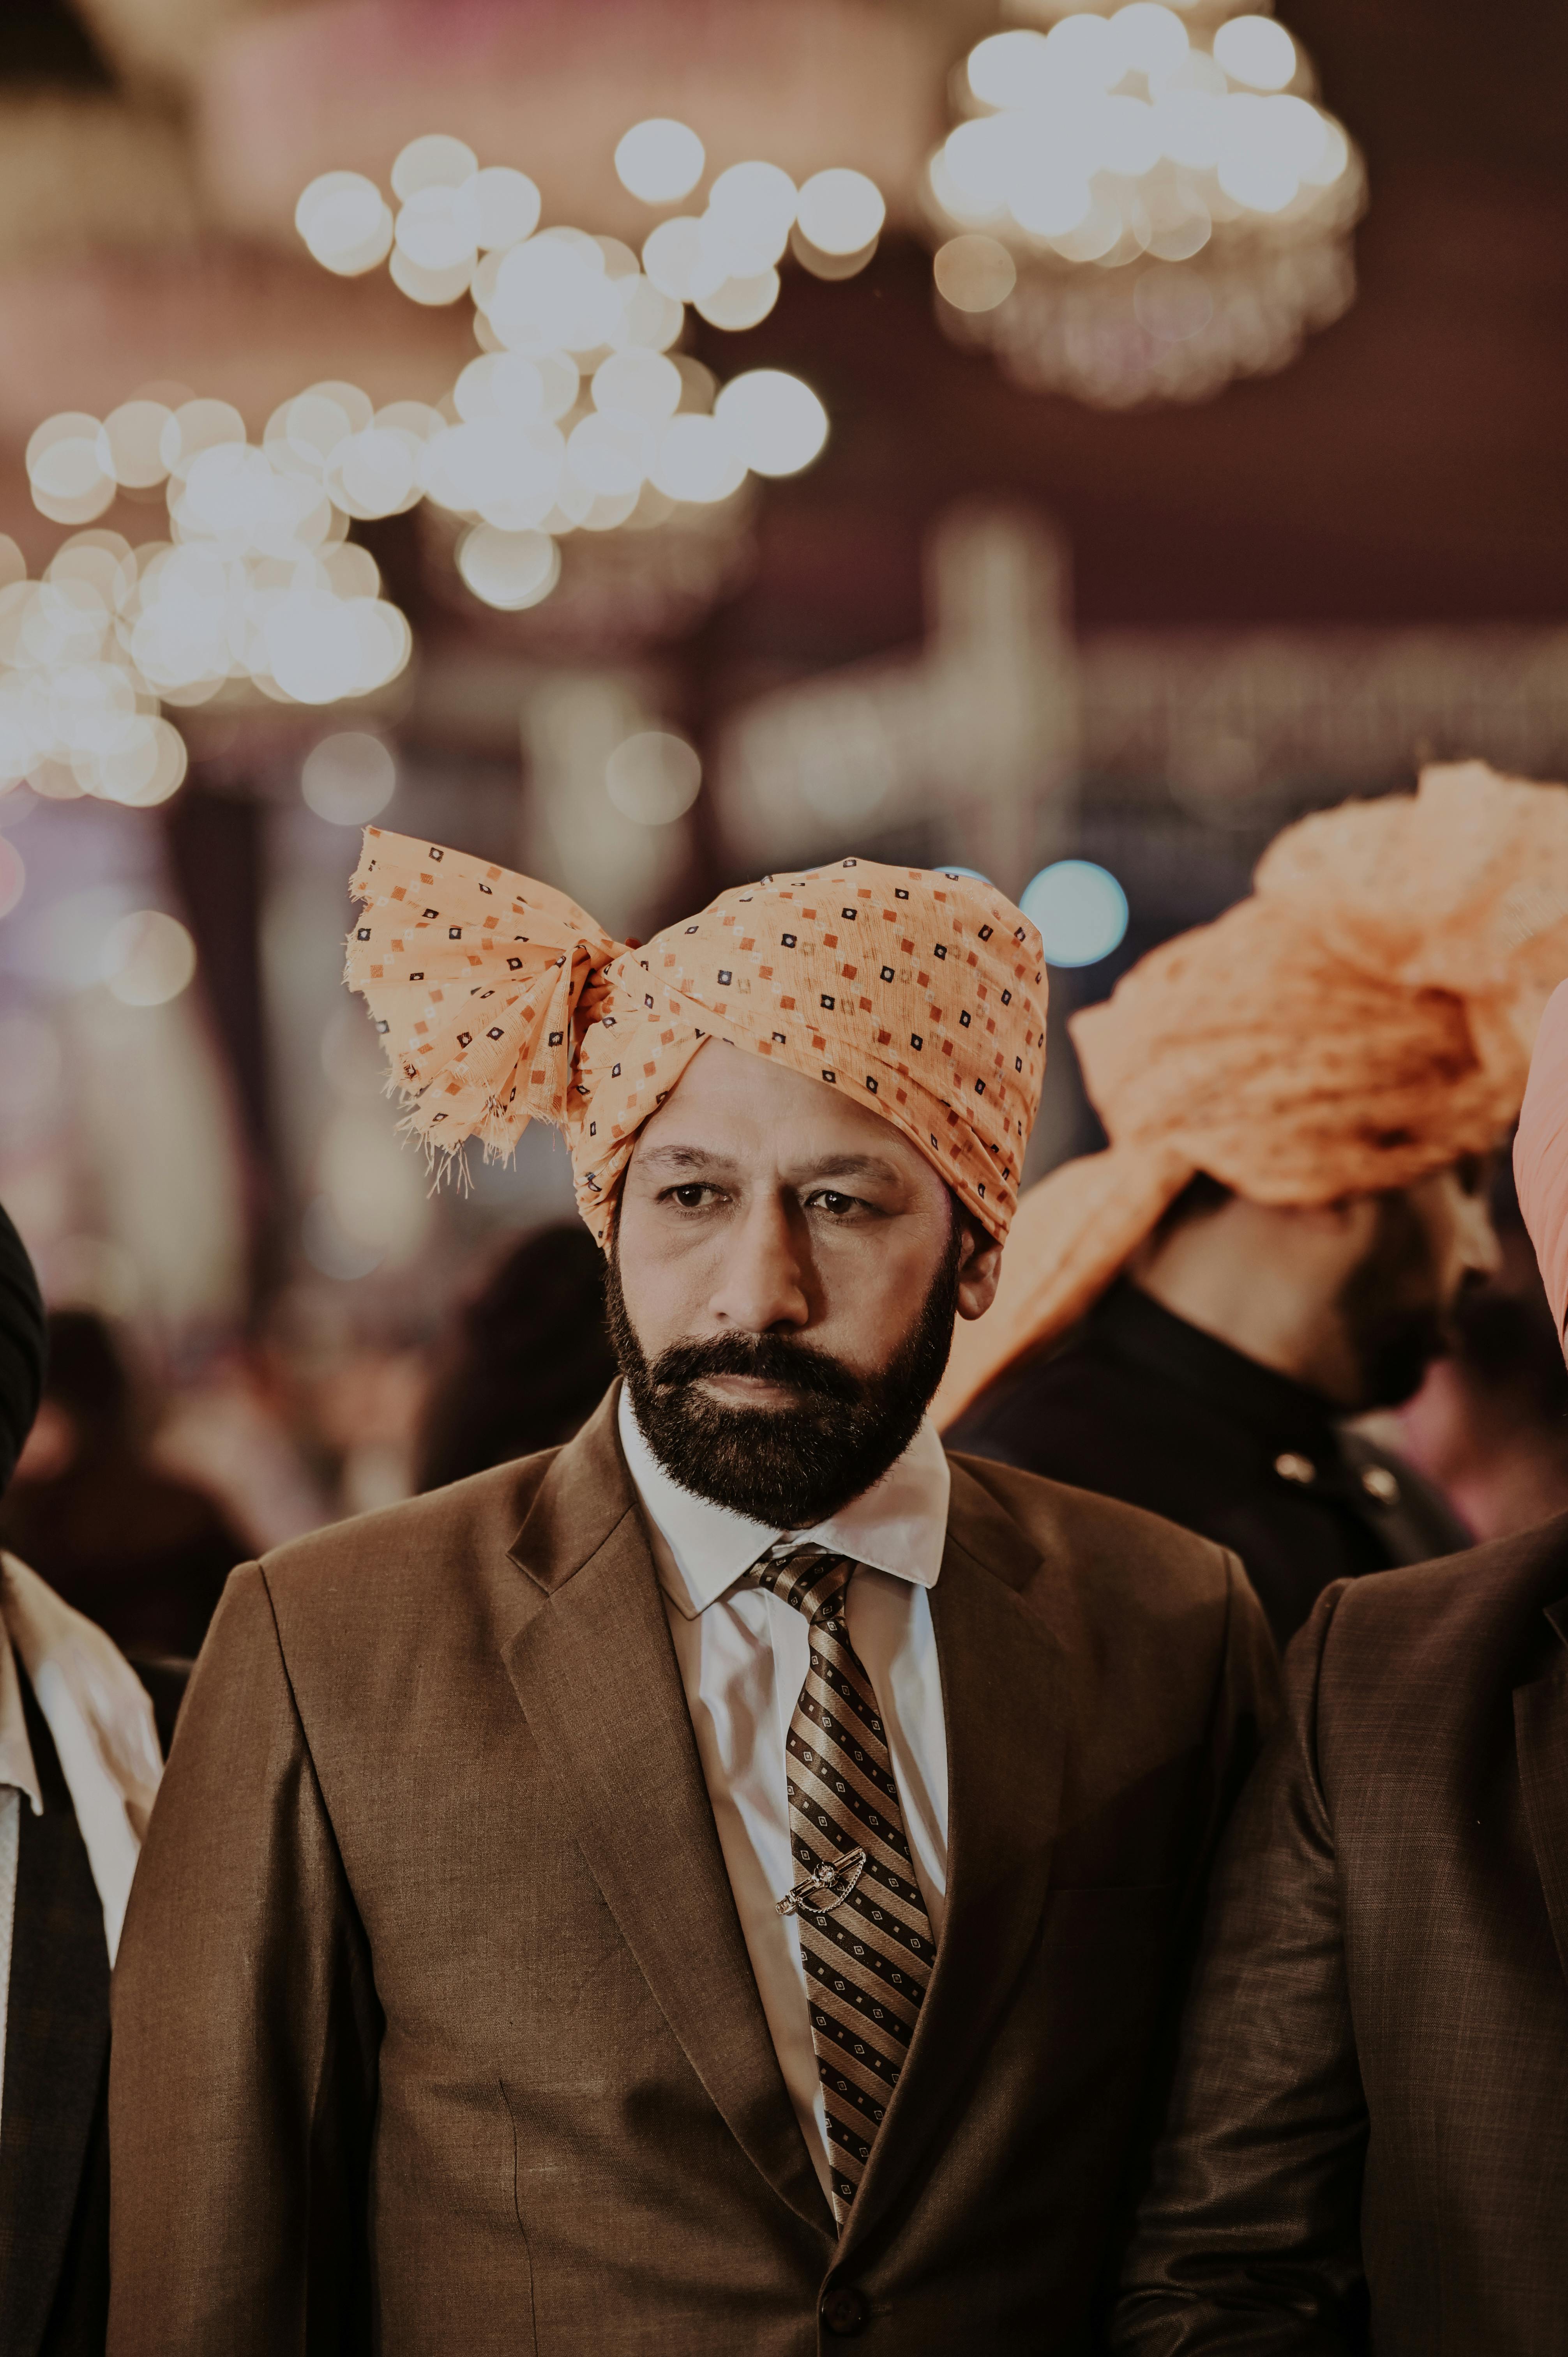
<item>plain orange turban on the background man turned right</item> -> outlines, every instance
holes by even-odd
[[[1023,1197],[938,1421],[1075,1325],[1195,1171],[1320,1204],[1490,1150],[1563,976],[1568,787],[1467,761],[1287,827],[1247,900],[1073,1018],[1111,1148]]]

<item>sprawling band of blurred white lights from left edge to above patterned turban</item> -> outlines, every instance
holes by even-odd
[[[703,179],[703,144],[641,123],[618,170],[667,207]],[[755,368],[722,384],[674,346],[689,304],[729,330],[764,318],[785,250],[828,278],[861,269],[884,219],[865,174],[797,189],[771,163],[731,165],[703,212],[653,226],[641,262],[620,238],[540,229],[523,172],[481,170],[443,134],[401,151],[391,191],[396,212],[365,174],[325,172],[297,229],[340,276],[387,264],[410,302],[474,302],[479,354],[439,405],[377,410],[323,382],[281,403],[259,443],[226,401],[149,396],[33,434],[33,504],[75,530],[42,580],[0,540],[0,792],[26,780],[45,797],[165,801],[186,771],[165,707],[387,688],[413,632],[349,540],[356,521],[424,502],[455,535],[465,587],[505,613],[552,596],[564,537],[634,530],[637,596],[684,610],[724,580],[747,481],[797,474],[823,448],[828,412],[799,377]],[[132,547],[94,528],[120,495],[158,490],[167,537]],[[658,547],[667,582],[648,563]]]

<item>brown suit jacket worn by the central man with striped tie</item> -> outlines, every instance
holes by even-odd
[[[613,1393],[236,1572],[116,1975],[113,2357],[1085,2350],[1271,1645],[1207,1541],[962,1461],[931,1617],[948,1921],[835,2246]]]

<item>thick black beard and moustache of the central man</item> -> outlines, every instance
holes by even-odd
[[[769,1530],[811,1530],[882,1480],[920,1431],[953,1348],[964,1226],[915,1325],[879,1374],[856,1374],[790,1334],[712,1334],[644,1358],[611,1249],[606,1313],[637,1424],[660,1466],[693,1497]],[[710,1374],[788,1384],[797,1407],[724,1407],[696,1386]]]

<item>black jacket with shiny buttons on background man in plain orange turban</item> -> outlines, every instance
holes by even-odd
[[[1162,1513],[1231,1546],[1287,1645],[1330,1579],[1471,1544],[1431,1483],[1129,1282],[1012,1367],[948,1442]]]

